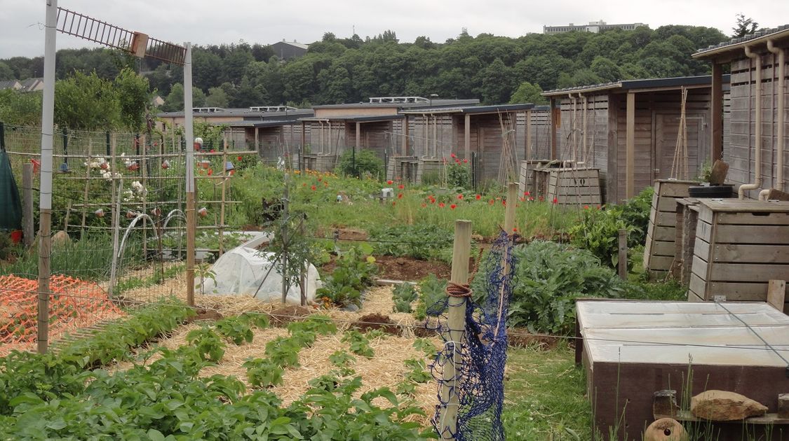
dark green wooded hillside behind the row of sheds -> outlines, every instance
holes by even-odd
[[[690,58],[695,50],[720,43],[715,28],[663,26],[654,30],[612,29],[593,34],[529,34],[517,39],[466,33],[444,43],[419,37],[399,43],[394,31],[372,38],[339,39],[331,33],[308,53],[280,61],[270,46],[249,43],[196,46],[193,51],[195,106],[260,106],[280,103],[359,102],[370,96],[439,95],[480,98],[484,103],[535,100],[541,90],[620,79],[703,75],[709,64]],[[75,70],[114,79],[125,66],[148,77],[181,109],[183,74],[177,66],[139,61],[104,49],[59,50],[57,75]],[[0,80],[41,76],[40,57],[0,61]],[[199,90],[198,90],[199,89]],[[539,95],[537,95],[539,96]]]

